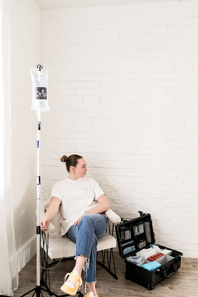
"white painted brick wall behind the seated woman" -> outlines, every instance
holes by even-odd
[[[42,10],[42,193],[83,155],[111,208],[198,257],[197,0]]]

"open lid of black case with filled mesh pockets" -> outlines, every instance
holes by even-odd
[[[155,236],[150,214],[139,211],[140,217],[121,221],[115,226],[118,249],[122,259],[135,255],[141,249],[155,244]]]

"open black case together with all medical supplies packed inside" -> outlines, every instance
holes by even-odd
[[[126,263],[125,278],[153,290],[180,268],[183,254],[155,244],[151,215],[139,213],[140,217],[116,225],[118,249]]]

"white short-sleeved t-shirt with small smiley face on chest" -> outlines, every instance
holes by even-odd
[[[67,177],[58,181],[52,188],[51,198],[54,196],[61,200],[61,234],[64,235],[86,210],[98,205],[97,199],[103,194],[99,184],[90,177],[76,181]]]

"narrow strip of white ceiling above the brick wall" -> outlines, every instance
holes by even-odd
[[[20,0],[18,0],[20,1]],[[83,7],[129,3],[171,2],[175,0],[34,0],[41,9],[62,7]],[[188,1],[188,0],[176,0]]]

